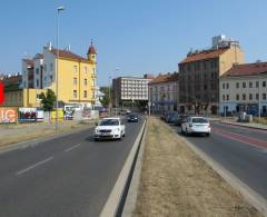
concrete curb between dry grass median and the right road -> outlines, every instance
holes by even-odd
[[[249,204],[251,204],[264,216],[267,217],[267,200],[264,197],[261,197],[258,193],[256,193],[254,189],[251,189],[249,186],[238,179],[234,174],[225,169],[220,164],[215,161],[198,147],[196,147],[185,138],[180,138],[194,152],[196,152],[207,165],[209,165],[217,174],[219,174],[219,176],[222,177],[233,188],[239,190]]]

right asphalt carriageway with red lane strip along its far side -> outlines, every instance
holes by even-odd
[[[210,137],[186,139],[267,199],[267,130],[212,122]]]

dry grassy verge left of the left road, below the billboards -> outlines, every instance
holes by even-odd
[[[0,148],[29,139],[46,138],[71,130],[93,126],[96,120],[65,120],[59,121],[59,129],[56,131],[55,122],[36,122],[21,125],[0,125]]]

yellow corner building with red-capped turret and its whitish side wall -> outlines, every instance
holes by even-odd
[[[58,70],[57,70],[57,55]],[[43,89],[50,88],[57,93],[58,71],[58,99],[65,105],[79,105],[91,107],[96,100],[96,68],[97,52],[95,47],[89,47],[87,58],[75,55],[70,50],[57,50],[52,47],[43,49]]]

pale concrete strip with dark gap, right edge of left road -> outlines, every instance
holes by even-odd
[[[100,217],[115,217],[115,216],[120,216],[120,214],[118,214],[119,211],[122,213],[123,207],[121,206],[121,199],[123,199],[125,195],[125,190],[127,187],[127,183],[129,181],[130,177],[130,171],[134,168],[134,162],[135,162],[135,158],[137,155],[137,151],[139,149],[139,145],[140,141],[142,139],[144,136],[144,131],[146,128],[146,122],[147,120],[145,120],[141,130],[139,132],[139,135],[137,136],[137,139],[126,159],[126,162],[118,176],[118,179],[101,210]]]

